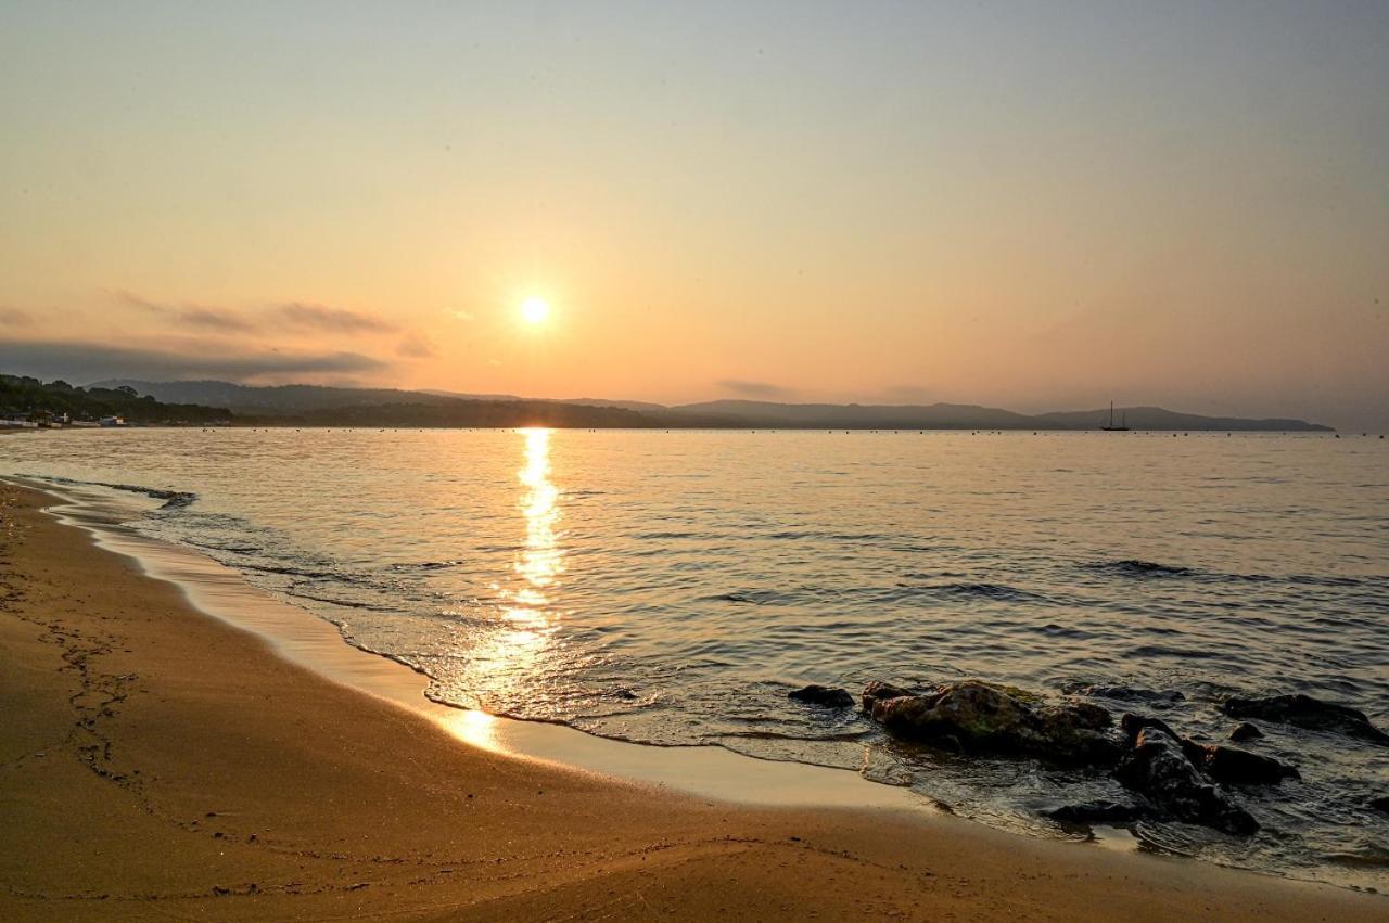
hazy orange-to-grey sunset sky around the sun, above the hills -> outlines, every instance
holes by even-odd
[[[1389,425],[1383,0],[0,0],[0,126],[6,371]]]

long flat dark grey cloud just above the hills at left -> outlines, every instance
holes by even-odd
[[[389,362],[360,353],[236,351],[221,341],[193,343],[183,350],[56,340],[0,343],[0,369],[10,375],[83,383],[110,378],[246,382],[294,375],[363,375],[389,368]]]

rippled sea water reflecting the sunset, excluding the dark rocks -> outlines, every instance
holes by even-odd
[[[1389,441],[1331,436],[101,430],[0,441],[0,472],[186,493],[194,545],[411,663],[440,701],[910,784],[958,813],[1122,798],[1101,773],[958,759],[786,700],[978,676],[1304,691],[1389,729]],[[1154,848],[1389,881],[1389,748],[1265,725],[1303,781],[1242,795],[1249,841]]]

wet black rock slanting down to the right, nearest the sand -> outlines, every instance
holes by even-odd
[[[1143,727],[1124,754],[1114,776],[1179,820],[1238,836],[1258,830],[1258,822],[1215,786],[1182,752],[1175,736]]]

